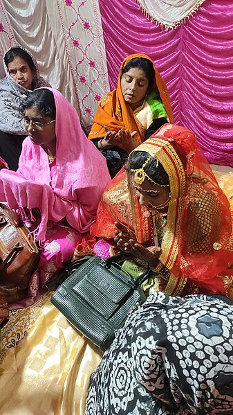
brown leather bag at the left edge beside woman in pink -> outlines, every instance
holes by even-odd
[[[0,289],[8,303],[27,295],[28,281],[39,262],[37,245],[17,214],[0,203]]]

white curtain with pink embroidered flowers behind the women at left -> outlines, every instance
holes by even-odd
[[[1,56],[12,44],[28,48],[41,76],[66,96],[88,130],[109,91],[98,0],[1,0],[0,6]]]

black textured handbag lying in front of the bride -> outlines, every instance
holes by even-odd
[[[137,278],[124,274],[118,263],[124,259],[122,253],[107,259],[89,256],[86,261],[75,261],[68,270],[70,276],[51,297],[71,324],[104,350],[113,342],[115,330],[123,326],[131,308],[146,300],[140,285],[150,271]],[[67,269],[64,273],[67,276]]]

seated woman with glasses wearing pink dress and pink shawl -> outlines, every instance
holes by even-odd
[[[71,261],[77,244],[87,249],[83,255],[88,252],[89,229],[110,176],[75,108],[59,91],[32,91],[20,112],[28,137],[17,172],[0,172],[0,200],[19,211],[41,249],[28,299],[21,303],[26,306]]]

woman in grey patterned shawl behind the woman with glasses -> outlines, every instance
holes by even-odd
[[[6,76],[0,80],[0,157],[10,170],[17,170],[26,137],[19,104],[33,89],[50,85],[39,76],[37,61],[21,46],[8,49],[3,64]]]

